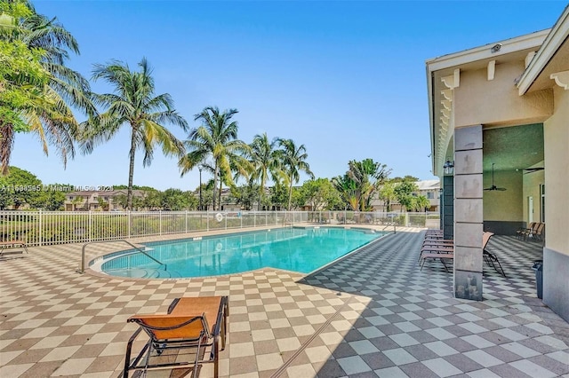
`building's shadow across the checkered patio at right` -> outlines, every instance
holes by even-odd
[[[541,245],[494,236],[483,302],[453,298],[440,263],[420,271],[423,232],[397,232],[299,283],[349,295],[272,376],[557,376],[569,325],[536,298]]]

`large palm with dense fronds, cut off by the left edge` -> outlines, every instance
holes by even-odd
[[[9,73],[1,83],[1,86],[8,87],[4,90],[15,91],[22,96],[17,104],[5,104],[0,100],[0,114],[3,115],[0,117],[2,173],[8,171],[15,132],[20,130],[36,133],[45,154],[48,154],[48,144],[55,145],[65,166],[68,157],[75,157],[74,142],[79,130],[71,106],[85,114],[95,112],[89,99],[89,83],[82,75],[64,66],[69,51],[79,53],[78,44],[55,18],[37,14],[27,0],[3,3],[0,46],[3,51],[12,47],[18,56],[26,56],[27,59],[18,61],[27,64],[28,71],[16,70],[13,72],[15,75]]]

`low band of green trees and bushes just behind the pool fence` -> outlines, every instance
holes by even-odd
[[[364,161],[359,163],[362,162]],[[359,163],[350,161],[349,165],[355,167]],[[344,176],[333,179],[310,179],[300,186],[293,186],[292,209],[371,211],[374,209],[372,204],[374,199],[383,201],[384,211],[391,211],[394,202],[400,203],[406,210],[429,209],[429,200],[422,195],[416,195],[418,190],[415,184],[416,177],[395,177],[347,184],[349,182],[347,177],[352,175],[353,172],[348,171]],[[339,184],[361,189],[344,191],[338,186]],[[212,209],[213,187],[213,179],[207,180],[201,188],[198,186],[193,191],[182,191],[178,188],[159,191],[150,186],[133,185],[133,190],[137,193],[132,197],[132,209],[172,211]],[[115,192],[100,192],[94,201],[90,200],[90,193],[73,192],[73,188],[74,186],[69,184],[44,184],[31,172],[11,167],[9,174],[0,177],[0,210],[63,210],[66,197],[70,193],[73,193],[73,199],[67,202],[74,210],[91,209],[91,204],[98,205],[100,210],[115,209],[115,205],[118,205],[119,209],[127,209],[127,195],[117,192],[124,191],[128,185],[112,185]],[[105,196],[105,193],[108,195]],[[365,193],[362,197],[364,200],[357,202],[351,198],[350,196],[355,193]],[[112,199],[108,198],[111,194]],[[244,185],[229,187],[219,201],[221,207],[231,205],[244,210],[287,209],[289,192],[286,186],[279,184],[260,190],[260,185],[249,181]]]

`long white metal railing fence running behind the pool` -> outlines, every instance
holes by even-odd
[[[438,213],[357,211],[0,211],[0,241],[29,246],[295,224],[424,227]]]

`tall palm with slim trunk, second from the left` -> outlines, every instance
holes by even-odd
[[[107,107],[84,122],[84,138],[81,147],[85,154],[91,154],[95,146],[107,142],[116,135],[121,126],[127,124],[131,131],[129,151],[129,172],[127,208],[132,210],[132,177],[134,157],[137,150],[144,152],[143,165],[152,162],[156,145],[164,154],[184,153],[184,146],[164,124],[171,123],[182,130],[188,130],[188,122],[173,109],[173,100],[168,93],[155,97],[155,84],[147,59],[139,63],[140,72],[133,72],[127,64],[113,60],[107,65],[94,65],[93,80],[103,79],[115,87],[114,93],[93,94],[93,101]]]

